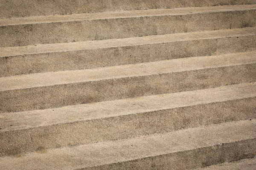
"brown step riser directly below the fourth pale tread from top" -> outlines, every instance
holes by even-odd
[[[0,132],[0,156],[253,119],[254,103],[256,97]]]

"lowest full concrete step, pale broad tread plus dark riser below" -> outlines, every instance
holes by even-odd
[[[256,155],[256,119],[0,158],[5,170],[173,170]]]

